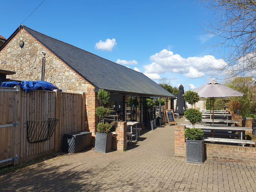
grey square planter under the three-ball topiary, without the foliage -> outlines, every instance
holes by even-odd
[[[96,132],[94,151],[100,153],[108,153],[111,151],[112,133]]]

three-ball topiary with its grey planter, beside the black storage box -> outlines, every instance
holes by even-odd
[[[100,89],[98,92],[98,100],[100,101],[101,106],[95,109],[96,115],[100,117],[102,122],[97,124],[94,151],[101,153],[110,152],[112,146],[112,133],[110,133],[112,125],[104,123],[104,118],[106,118],[110,113],[108,108],[109,96],[109,92]]]

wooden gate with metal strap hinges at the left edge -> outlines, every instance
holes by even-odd
[[[14,152],[14,141],[19,96],[16,88],[0,89],[0,167],[12,164],[18,156]]]

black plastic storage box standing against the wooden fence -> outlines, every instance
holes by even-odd
[[[78,153],[91,147],[92,133],[75,132],[63,136],[62,151],[65,153]]]

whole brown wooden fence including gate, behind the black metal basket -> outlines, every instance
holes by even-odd
[[[0,163],[0,167],[60,151],[65,133],[84,131],[85,93],[0,89],[0,162],[18,156],[17,160]],[[52,138],[29,143],[27,121],[49,118],[59,119]],[[18,125],[11,126],[16,121]]]

